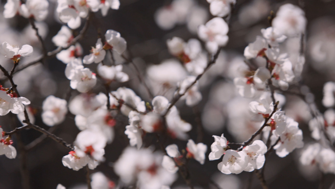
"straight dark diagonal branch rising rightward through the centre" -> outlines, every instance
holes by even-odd
[[[167,109],[167,111],[165,112],[165,114],[163,115],[163,116],[166,116],[167,114],[168,114],[168,110],[170,110],[177,102],[178,102],[178,100],[182,97],[182,96],[184,96],[186,93],[187,93],[187,91],[197,82],[197,81],[199,81],[200,80],[200,78],[205,74],[205,72],[211,67],[211,65],[212,64],[214,64],[215,62],[216,62],[216,59],[217,59],[217,57],[218,57],[218,55],[220,54],[220,51],[221,51],[221,48],[219,48],[218,50],[217,50],[217,52],[215,53],[215,54],[212,54],[211,55],[211,57],[209,58],[209,61],[208,61],[208,63],[207,63],[207,66],[206,66],[206,68],[204,69],[204,71],[201,73],[201,74],[199,74],[196,78],[195,78],[195,80],[185,89],[185,92],[183,93],[183,94],[179,94],[179,93],[177,93],[177,95],[176,96],[174,96],[174,98],[171,100],[171,102],[170,102],[170,106],[168,106],[168,109]],[[179,90],[179,89],[178,89]]]

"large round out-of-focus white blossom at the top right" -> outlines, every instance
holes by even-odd
[[[296,36],[304,33],[307,19],[304,11],[293,4],[284,4],[279,7],[276,17],[272,21],[272,26],[278,33],[287,36]]]

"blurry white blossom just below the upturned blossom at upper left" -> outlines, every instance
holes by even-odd
[[[98,64],[96,69],[99,76],[107,82],[125,82],[129,80],[129,76],[122,72],[122,67],[123,66],[121,64],[117,66],[106,66]]]

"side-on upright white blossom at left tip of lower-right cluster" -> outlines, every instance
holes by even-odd
[[[213,135],[213,137],[215,141],[211,145],[212,152],[208,156],[210,161],[220,159],[224,152],[228,149],[228,141],[227,138],[223,136],[223,134],[221,137],[215,135]]]

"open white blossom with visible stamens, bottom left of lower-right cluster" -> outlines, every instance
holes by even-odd
[[[227,150],[217,168],[224,174],[239,174],[248,165],[248,155],[244,151]]]

